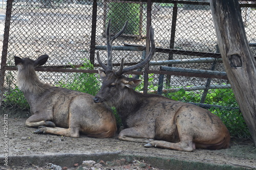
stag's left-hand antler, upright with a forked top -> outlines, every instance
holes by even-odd
[[[127,27],[127,23],[128,21],[125,22],[123,28],[121,31],[119,31],[119,33],[117,33],[116,35],[114,35],[113,37],[111,37],[110,35],[110,23],[111,23],[111,19],[109,19],[109,23],[106,26],[106,46],[107,46],[107,51],[108,51],[108,60],[107,60],[107,65],[103,64],[99,58],[99,53],[97,52],[97,60],[99,62],[99,65],[105,70],[113,70],[113,65],[112,65],[112,42],[119,37],[120,35],[122,35],[122,33],[125,31],[126,27]]]

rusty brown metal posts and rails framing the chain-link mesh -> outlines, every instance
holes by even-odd
[[[124,0],[119,0],[124,1]],[[5,20],[5,31],[4,31],[4,41],[3,41],[3,52],[2,52],[2,62],[1,62],[1,72],[0,72],[0,101],[3,99],[3,90],[4,90],[4,80],[5,80],[5,71],[6,70],[16,70],[14,66],[6,66],[7,61],[7,51],[8,51],[8,40],[9,40],[9,30],[10,30],[10,22],[11,22],[11,12],[12,12],[12,2],[13,0],[7,1],[7,10],[6,10],[6,20]],[[193,4],[193,5],[206,5],[209,6],[209,3],[206,2],[188,2],[188,1],[170,1],[170,0],[137,0],[133,2],[146,2],[147,3],[147,42],[146,42],[146,51],[148,52],[150,49],[150,41],[148,38],[148,30],[151,26],[151,5],[152,3],[171,3],[177,6],[177,4]],[[175,7],[176,7],[175,6]],[[174,12],[176,8],[174,7]],[[240,4],[240,7],[253,7],[256,8],[256,4]],[[176,14],[177,15],[177,12]],[[175,18],[173,18],[175,19]],[[97,21],[97,0],[93,1],[93,17],[92,17],[92,34],[91,34],[91,44],[90,44],[90,61],[94,64],[95,61],[95,36],[96,36],[96,21]],[[220,58],[221,55],[219,53],[204,53],[204,52],[195,52],[195,51],[182,51],[182,50],[174,50],[172,49],[174,38],[175,38],[175,28],[176,22],[175,20],[172,23],[172,30],[174,31],[170,37],[170,48],[156,48],[156,52],[168,53],[169,58],[172,58],[173,54],[181,54],[187,56],[201,56],[201,57],[214,57]],[[125,63],[126,65],[134,65],[137,63]],[[120,64],[115,64],[120,65]],[[81,65],[75,66],[75,68]],[[95,67],[99,65],[94,64]],[[96,73],[97,70],[82,70],[82,69],[72,69],[70,65],[58,65],[58,66],[41,66],[35,68],[37,71],[55,71],[55,72],[87,72],[87,73]],[[215,76],[215,75],[205,75],[205,74],[193,74],[186,72],[173,72],[173,71],[163,71],[163,70],[149,70],[148,65],[145,66],[145,70],[142,71],[132,71],[127,72],[127,74],[133,75],[144,75],[144,89],[143,91],[147,92],[147,78],[148,74],[164,74],[164,75],[177,75],[177,76],[187,76],[187,77],[202,77],[202,78],[216,78],[216,79],[227,79],[227,77],[223,76]],[[0,107],[2,103],[0,102]]]

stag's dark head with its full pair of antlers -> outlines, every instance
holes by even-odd
[[[129,72],[135,69],[138,69],[140,67],[143,67],[145,64],[147,64],[155,54],[155,41],[154,41],[154,30],[152,27],[150,27],[150,41],[151,41],[151,49],[146,57],[145,60],[142,62],[123,68],[123,58],[121,59],[120,68],[115,71],[113,70],[112,66],[112,42],[114,39],[119,37],[126,29],[127,21],[125,22],[125,25],[123,26],[122,30],[111,37],[110,35],[110,24],[111,20],[109,20],[108,26],[106,28],[106,41],[107,41],[107,50],[108,50],[108,61],[107,65],[103,64],[99,58],[99,53],[97,53],[97,60],[100,64],[100,66],[104,69],[99,69],[99,75],[102,79],[102,86],[100,91],[97,93],[97,95],[94,98],[95,103],[105,102],[108,103],[110,106],[115,106],[116,103],[120,100],[120,98],[123,98],[125,96],[125,91],[136,87],[139,85],[141,80],[134,79],[134,78],[127,78],[123,76],[125,72]]]

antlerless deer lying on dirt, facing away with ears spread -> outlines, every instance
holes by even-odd
[[[93,103],[90,94],[39,81],[34,67],[45,64],[48,58],[47,55],[36,60],[14,57],[18,88],[23,91],[32,113],[26,126],[39,127],[35,133],[79,137],[81,132],[89,137],[112,137],[117,128],[111,109]]]

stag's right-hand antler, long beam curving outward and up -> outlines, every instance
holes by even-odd
[[[150,42],[151,42],[150,53],[147,55],[146,59],[136,65],[124,68],[122,71],[122,74],[124,74],[125,72],[135,70],[137,68],[143,67],[144,65],[146,65],[146,63],[148,63],[153,58],[153,56],[155,54],[156,46],[155,46],[155,41],[154,41],[154,29],[152,27],[150,27]]]

